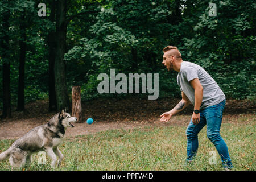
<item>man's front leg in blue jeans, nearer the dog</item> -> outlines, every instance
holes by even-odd
[[[192,122],[192,119],[189,122],[189,125],[186,130],[187,135],[187,162],[192,160],[193,157],[196,155],[198,149],[198,137],[197,134],[203,129],[206,125],[206,120],[203,113],[200,113],[200,122],[195,125]]]

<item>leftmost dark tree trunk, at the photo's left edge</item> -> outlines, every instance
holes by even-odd
[[[3,15],[3,39],[0,40],[0,46],[3,50],[2,59],[3,59],[3,113],[2,119],[11,118],[11,90],[10,90],[10,57],[9,57],[9,35],[7,34],[9,30],[9,18],[10,12],[7,11]]]

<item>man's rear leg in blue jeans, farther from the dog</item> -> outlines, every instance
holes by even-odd
[[[222,101],[220,104],[210,106],[205,109],[205,111],[207,111],[207,114],[205,114],[207,120],[207,137],[216,147],[218,154],[220,154],[222,166],[232,168],[233,164],[229,156],[228,147],[220,135],[224,108],[225,101]]]

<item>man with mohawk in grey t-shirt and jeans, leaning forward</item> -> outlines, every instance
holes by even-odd
[[[221,138],[220,127],[226,97],[218,84],[199,65],[183,61],[177,47],[167,46],[163,49],[163,64],[168,71],[178,72],[177,84],[181,90],[182,100],[174,109],[163,113],[160,121],[168,122],[172,115],[179,113],[191,102],[193,115],[187,127],[187,160],[190,162],[198,148],[197,134],[207,125],[207,137],[221,156],[222,166],[233,168],[228,147]]]

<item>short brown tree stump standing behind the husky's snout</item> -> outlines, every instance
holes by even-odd
[[[72,117],[77,118],[77,122],[82,122],[82,101],[81,87],[72,86]]]

